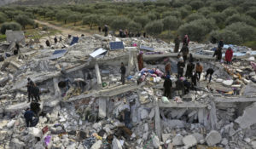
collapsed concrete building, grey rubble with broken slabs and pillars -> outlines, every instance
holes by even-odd
[[[256,75],[250,64],[256,53],[251,49],[224,45],[235,50],[233,65],[226,66],[212,58],[215,45],[190,43],[189,53],[204,72],[215,70],[212,83],[202,74],[196,90],[182,98],[173,92],[172,99],[162,100],[160,76],[148,75],[137,83],[137,53],[147,51],[143,60],[148,69],[164,72],[171,62],[174,82],[173,43],[100,35],[77,42],[67,38],[49,48],[24,45],[18,56],[9,54],[0,62],[0,148],[256,147]],[[0,54],[13,47],[2,43]],[[127,70],[124,85],[119,82],[121,62]],[[27,77],[38,85],[42,100],[39,123],[32,128],[26,128],[23,117],[30,105]],[[128,127],[125,110],[131,112]]]

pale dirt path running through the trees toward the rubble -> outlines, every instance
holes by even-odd
[[[55,26],[55,25],[52,25],[50,24],[49,22],[46,22],[46,21],[42,21],[42,20],[35,20],[35,22],[37,22],[38,24],[41,24],[41,25],[44,25],[44,26],[49,26],[50,28],[53,28],[55,30],[58,30],[58,31],[61,31],[61,34],[62,35],[73,35],[73,36],[81,36],[82,34],[84,35],[90,35],[88,32],[79,32],[79,31],[75,31],[75,30],[72,30],[72,29],[68,29],[68,28],[64,28],[64,27],[61,27],[61,26]]]

